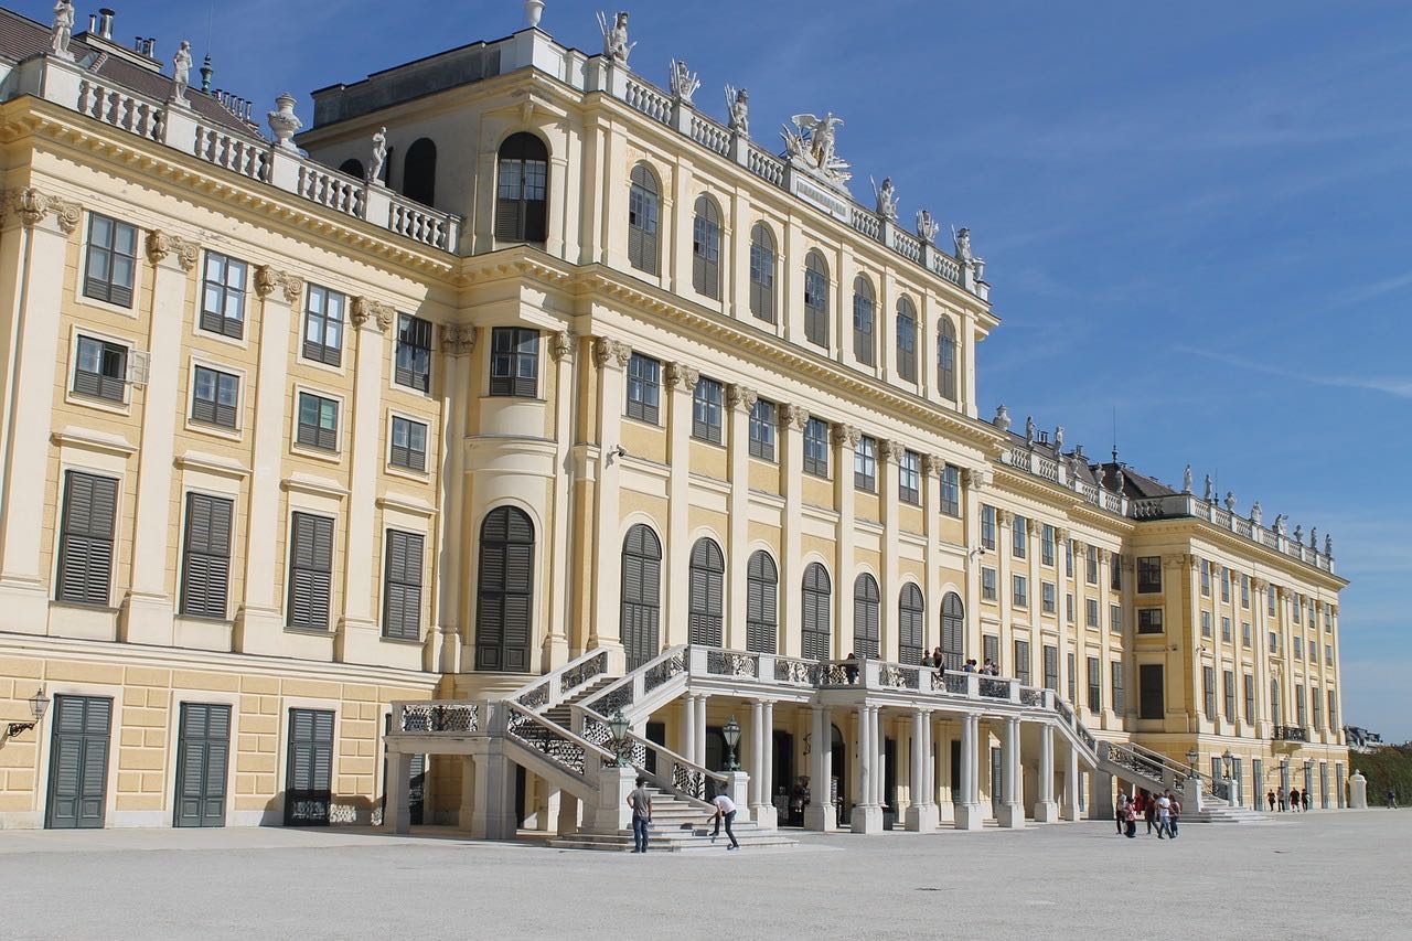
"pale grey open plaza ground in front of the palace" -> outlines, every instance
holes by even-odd
[[[1082,822],[648,858],[349,831],[4,832],[0,934],[1384,938],[1412,917],[1409,838],[1394,811],[1189,825],[1175,844]]]

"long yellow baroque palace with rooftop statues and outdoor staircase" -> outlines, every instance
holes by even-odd
[[[0,11],[0,827],[1344,805],[1330,543],[991,418],[969,232],[525,7],[302,133]]]

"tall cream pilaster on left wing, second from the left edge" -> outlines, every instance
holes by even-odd
[[[196,267],[198,256],[193,242],[161,232],[147,233],[152,309],[147,339],[147,389],[143,394],[143,446],[137,458],[133,588],[123,602],[119,622],[120,636],[127,643],[171,646],[174,640],[174,605],[167,593],[172,451],[176,415],[185,413],[178,401],[178,380],[182,374],[186,276]],[[178,509],[178,513],[184,511]]]

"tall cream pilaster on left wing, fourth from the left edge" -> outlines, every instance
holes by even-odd
[[[391,650],[380,650],[377,616],[373,612],[378,552],[367,551],[370,543],[378,547],[383,544],[376,516],[377,478],[383,466],[383,415],[378,403],[383,397],[383,363],[387,362],[383,333],[393,326],[393,318],[390,304],[356,297],[350,305],[349,319],[352,333],[357,338],[357,350],[353,363],[353,401],[345,415],[350,430],[352,486],[347,527],[343,533],[343,617],[339,619],[333,643],[333,656],[340,663],[390,665],[387,661],[393,654]],[[421,665],[421,650],[401,647],[400,653],[415,654],[415,665]]]

